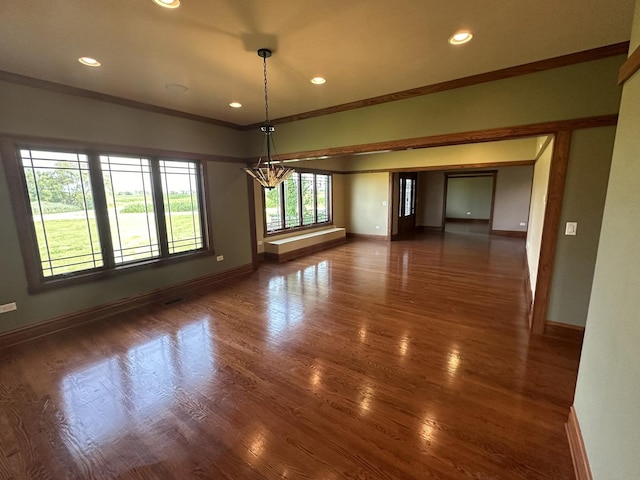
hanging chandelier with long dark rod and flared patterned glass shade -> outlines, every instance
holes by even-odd
[[[271,56],[271,50],[261,48],[258,56],[262,57],[264,72],[264,116],[265,122],[260,127],[264,133],[264,145],[258,163],[252,168],[245,168],[244,171],[255,178],[260,185],[265,188],[274,188],[284,182],[294,172],[292,168],[286,168],[279,164],[276,147],[273,143],[273,132],[275,127],[269,121],[269,96],[267,94],[267,58]],[[273,156],[272,156],[273,151]],[[265,155],[266,154],[266,155]],[[278,162],[278,164],[274,164]]]

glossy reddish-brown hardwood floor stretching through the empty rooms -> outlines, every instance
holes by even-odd
[[[352,241],[0,351],[1,479],[573,479],[520,239]]]

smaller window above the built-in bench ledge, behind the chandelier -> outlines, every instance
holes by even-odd
[[[294,172],[264,189],[265,231],[309,228],[331,222],[331,175]]]

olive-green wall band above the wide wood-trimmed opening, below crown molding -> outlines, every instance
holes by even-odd
[[[623,61],[624,56],[616,56],[278,125],[278,151],[359,145],[616,113],[620,104],[616,83]],[[254,148],[260,151],[259,145]]]

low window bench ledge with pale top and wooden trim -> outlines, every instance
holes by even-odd
[[[346,229],[326,228],[310,233],[301,233],[279,240],[265,241],[264,251],[267,260],[278,263],[310,255],[347,241]]]

